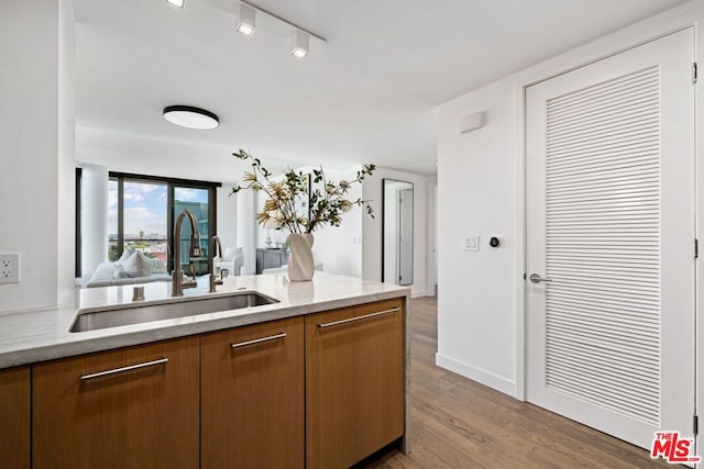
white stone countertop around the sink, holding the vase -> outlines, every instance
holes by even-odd
[[[316,272],[310,282],[289,282],[285,273],[229,277],[218,293],[208,293],[208,278],[198,288],[184,290],[184,297],[170,298],[170,282],[144,284],[144,302],[132,302],[134,286],[79,290],[76,305],[41,311],[15,312],[0,316],[0,368],[52,360],[55,358],[108,350],[166,338],[237,327],[389,298],[410,298],[407,287],[364,281],[327,272]],[[78,310],[113,305],[138,305],[152,301],[184,301],[233,292],[256,291],[278,303],[98,331],[68,332]]]

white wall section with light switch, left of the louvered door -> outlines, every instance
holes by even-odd
[[[440,109],[438,133],[438,355],[440,366],[513,393],[516,360],[517,193],[512,82]],[[484,129],[458,132],[466,113]],[[464,237],[480,235],[480,250]],[[497,236],[502,247],[490,249]]]

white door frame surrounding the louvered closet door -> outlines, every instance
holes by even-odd
[[[560,75],[586,67],[591,64],[600,62],[604,58],[613,57],[623,52],[636,48],[640,45],[657,41],[670,34],[692,27],[694,30],[694,54],[695,59],[700,63],[700,79],[694,89],[695,96],[695,125],[704,122],[704,102],[700,100],[697,87],[704,82],[704,60],[700,57],[700,51],[704,51],[704,34],[697,34],[697,23],[704,24],[704,8],[694,7],[686,3],[682,7],[668,10],[664,13],[654,15],[648,20],[628,26],[616,33],[606,35],[600,40],[588,43],[584,46],[572,49],[565,54],[559,55],[526,70],[516,74],[514,78],[514,132],[516,136],[515,158],[516,166],[516,386],[515,398],[526,400],[526,368],[527,368],[527,349],[526,349],[526,330],[527,330],[527,303],[526,303],[526,253],[527,253],[527,233],[526,233],[526,191],[528,188],[526,180],[526,91],[527,88]],[[585,57],[587,57],[585,59]],[[590,58],[591,57],[591,58]],[[700,138],[704,138],[704,131],[700,131],[698,126],[695,134],[695,166],[696,166],[696,187],[695,187],[695,210],[696,210],[696,237],[704,242],[704,188],[700,188],[698,181],[704,181],[704,148],[698,145]],[[702,256],[704,257],[704,256]],[[696,276],[696,299],[695,299],[695,343],[704,338],[704,309],[700,301],[700,295],[704,292],[704,279],[701,263],[695,266]],[[696,347],[695,356],[695,409],[697,413],[704,414],[704,402],[702,392],[704,390],[704,347]],[[704,433],[704,428],[702,429]],[[704,438],[697,438],[698,455],[704,454]]]

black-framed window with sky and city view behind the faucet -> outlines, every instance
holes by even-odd
[[[208,271],[209,241],[216,233],[216,182],[188,181],[110,172],[108,182],[108,260],[118,260],[132,247],[174,268],[173,226],[183,210],[198,221],[202,257],[195,259],[196,275]],[[184,223],[182,264],[189,264],[190,224]]]

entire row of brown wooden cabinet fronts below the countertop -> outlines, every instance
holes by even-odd
[[[3,468],[346,468],[404,436],[404,300],[0,371],[0,422]]]

